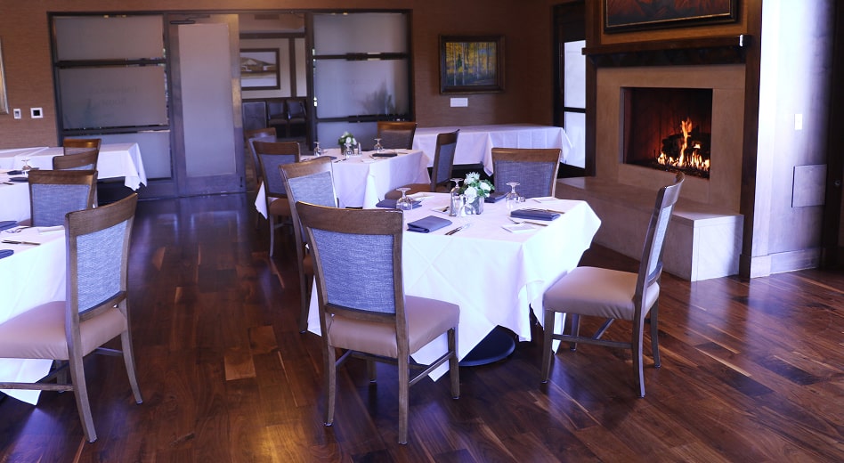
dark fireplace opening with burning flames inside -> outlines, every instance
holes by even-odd
[[[622,89],[627,164],[710,176],[712,90]]]

